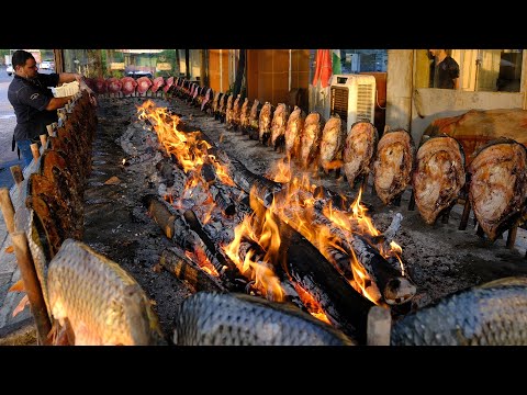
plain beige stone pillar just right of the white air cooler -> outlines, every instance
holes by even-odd
[[[386,125],[410,131],[414,49],[389,49],[386,71]]]

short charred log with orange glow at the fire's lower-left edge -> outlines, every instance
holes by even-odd
[[[159,264],[179,280],[187,281],[199,291],[226,292],[227,290],[213,275],[184,256],[179,248],[165,249]]]

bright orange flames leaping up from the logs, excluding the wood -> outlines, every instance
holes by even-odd
[[[215,177],[223,184],[235,185],[228,174],[228,169],[223,167],[214,155],[209,154],[211,146],[200,139],[199,132],[183,133],[178,131],[179,117],[169,113],[166,109],[156,109],[150,100],[138,106],[137,111],[139,119],[147,120],[156,132],[159,145],[164,147],[169,156],[173,156],[177,159],[179,166],[187,173],[188,181],[181,198],[194,198],[194,193],[195,196],[202,196],[202,191],[209,190],[208,182],[201,176],[202,167],[205,163],[212,165]],[[257,198],[256,193],[251,191],[249,198],[254,212],[236,226],[233,241],[227,246],[222,246],[223,251],[236,264],[240,273],[251,281],[254,290],[269,300],[283,301],[285,297],[284,291],[280,285],[280,280],[273,272],[273,268],[279,262],[281,242],[278,225],[273,219],[276,215],[280,221],[295,228],[329,262],[334,263],[338,270],[341,270],[337,266],[336,258],[332,256],[335,253],[339,255],[338,264],[349,266],[348,271],[352,275],[348,280],[350,285],[373,303],[380,304],[380,292],[377,285],[372,283],[372,280],[369,279],[365,267],[358,261],[352,250],[346,252],[343,249],[340,245],[341,238],[335,235],[335,228],[340,229],[339,232],[344,233],[344,235],[356,233],[371,237],[380,235],[380,232],[368,215],[367,206],[360,203],[362,190],[359,190],[357,199],[349,205],[348,210],[334,207],[330,202],[327,203],[326,199],[314,195],[316,187],[311,184],[309,176],[303,174],[302,178],[293,177],[290,161],[290,157],[287,156],[284,160],[277,162],[277,167],[272,171],[272,177],[270,178],[277,182],[284,183],[285,187],[272,201],[270,207],[265,208],[262,204],[255,204]],[[242,196],[243,194],[240,194]],[[323,202],[322,207],[321,202]],[[210,221],[216,205],[211,195],[201,202],[200,205],[203,207],[201,221],[205,224]],[[319,221],[321,212],[323,217],[327,218],[327,223]],[[400,258],[402,253],[401,247],[395,242],[391,242],[390,248],[388,248],[384,242],[379,242],[378,248],[383,257],[396,257],[399,259],[404,275],[404,267]],[[204,270],[211,270],[210,268],[214,270],[214,267],[204,253],[203,256],[201,253],[197,255],[200,255],[198,261],[202,268],[205,268]],[[293,284],[298,287],[294,281]],[[303,302],[305,301],[305,305],[315,305],[312,302],[314,298],[310,298],[305,290],[298,291],[298,293],[299,295],[302,294],[301,298]],[[327,317],[323,313],[318,313],[316,308],[313,308],[312,314],[322,317],[321,319],[323,320],[327,320]]]

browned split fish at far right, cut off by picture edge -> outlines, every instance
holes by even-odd
[[[525,210],[526,166],[525,146],[508,138],[486,144],[470,162],[470,204],[491,240],[513,225]]]

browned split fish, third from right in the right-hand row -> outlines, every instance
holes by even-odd
[[[373,162],[373,184],[384,204],[389,204],[410,184],[414,157],[414,140],[405,129],[386,132],[379,140]]]

